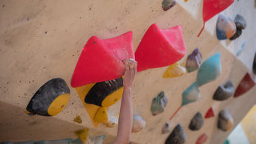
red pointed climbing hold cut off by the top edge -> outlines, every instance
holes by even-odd
[[[200,36],[204,29],[205,22],[210,20],[216,14],[222,12],[233,3],[234,0],[203,0],[203,28],[197,37]]]

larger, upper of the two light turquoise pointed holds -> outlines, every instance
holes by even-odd
[[[214,81],[221,75],[221,53],[216,53],[206,59],[197,72],[197,85],[200,87],[205,83]]]

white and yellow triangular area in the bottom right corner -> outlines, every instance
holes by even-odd
[[[256,143],[256,104],[233,129],[223,144]]]

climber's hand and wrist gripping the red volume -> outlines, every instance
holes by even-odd
[[[126,71],[124,72],[124,88],[132,88],[132,83],[134,76],[137,73],[137,61],[134,59],[124,59],[124,65],[126,66]]]

